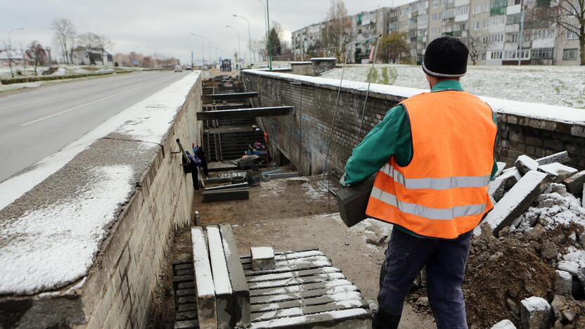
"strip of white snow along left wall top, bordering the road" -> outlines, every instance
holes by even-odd
[[[89,131],[77,141],[65,146],[57,153],[39,160],[39,162],[31,166],[33,169],[16,174],[1,182],[0,209],[4,209],[4,207],[62,168],[75,155],[88,148],[98,138],[110,133],[119,132],[139,141],[160,143],[199,76],[200,71],[193,71],[183,79],[154,93],[153,96],[110,117],[103,124]]]

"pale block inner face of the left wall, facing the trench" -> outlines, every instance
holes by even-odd
[[[163,256],[174,227],[191,218],[191,174],[181,168],[181,155],[171,152],[179,149],[176,138],[186,148],[196,140],[201,93],[199,79],[90,272],[82,293],[86,328],[146,328],[160,274],[169,266]]]

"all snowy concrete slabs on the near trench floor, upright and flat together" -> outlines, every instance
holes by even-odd
[[[197,316],[175,328],[371,328],[368,303],[323,252],[240,257],[229,224],[194,227],[191,238]]]

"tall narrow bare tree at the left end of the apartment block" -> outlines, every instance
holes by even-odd
[[[351,26],[343,0],[331,0],[325,27],[321,31],[323,46],[335,49],[335,56],[339,57],[343,50],[345,30]]]

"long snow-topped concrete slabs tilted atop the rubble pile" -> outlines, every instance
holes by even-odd
[[[494,209],[484,218],[495,236],[514,224],[551,183],[563,183],[575,196],[583,193],[585,171],[563,164],[569,160],[567,152],[561,152],[536,160],[521,155],[509,169],[502,170],[503,164],[499,163],[498,173],[488,187]],[[480,233],[480,226],[475,233]]]

